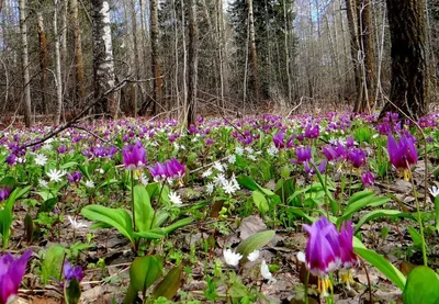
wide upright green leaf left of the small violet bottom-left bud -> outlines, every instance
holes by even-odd
[[[50,246],[44,255],[43,262],[41,264],[42,277],[44,284],[47,284],[49,280],[54,279],[60,281],[60,273],[64,260],[64,247],[60,245]]]

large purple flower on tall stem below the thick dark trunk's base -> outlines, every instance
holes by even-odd
[[[387,136],[389,158],[396,169],[408,169],[407,166],[418,161],[414,139],[407,135],[399,137],[399,143],[392,135]]]

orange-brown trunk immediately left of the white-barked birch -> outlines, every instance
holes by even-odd
[[[75,100],[81,104],[86,97],[86,77],[83,71],[81,32],[78,19],[78,0],[70,0],[70,16],[74,26],[74,45],[75,45]]]

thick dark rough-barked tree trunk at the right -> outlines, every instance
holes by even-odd
[[[427,113],[428,65],[424,0],[386,0],[392,42],[390,100],[412,119]],[[398,109],[387,102],[380,116]]]

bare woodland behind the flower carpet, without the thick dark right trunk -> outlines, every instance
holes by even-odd
[[[59,124],[98,99],[95,115],[188,122],[297,105],[371,112],[391,95],[392,25],[423,38],[435,101],[439,0],[404,0],[408,12],[392,2],[0,0],[2,120]]]

